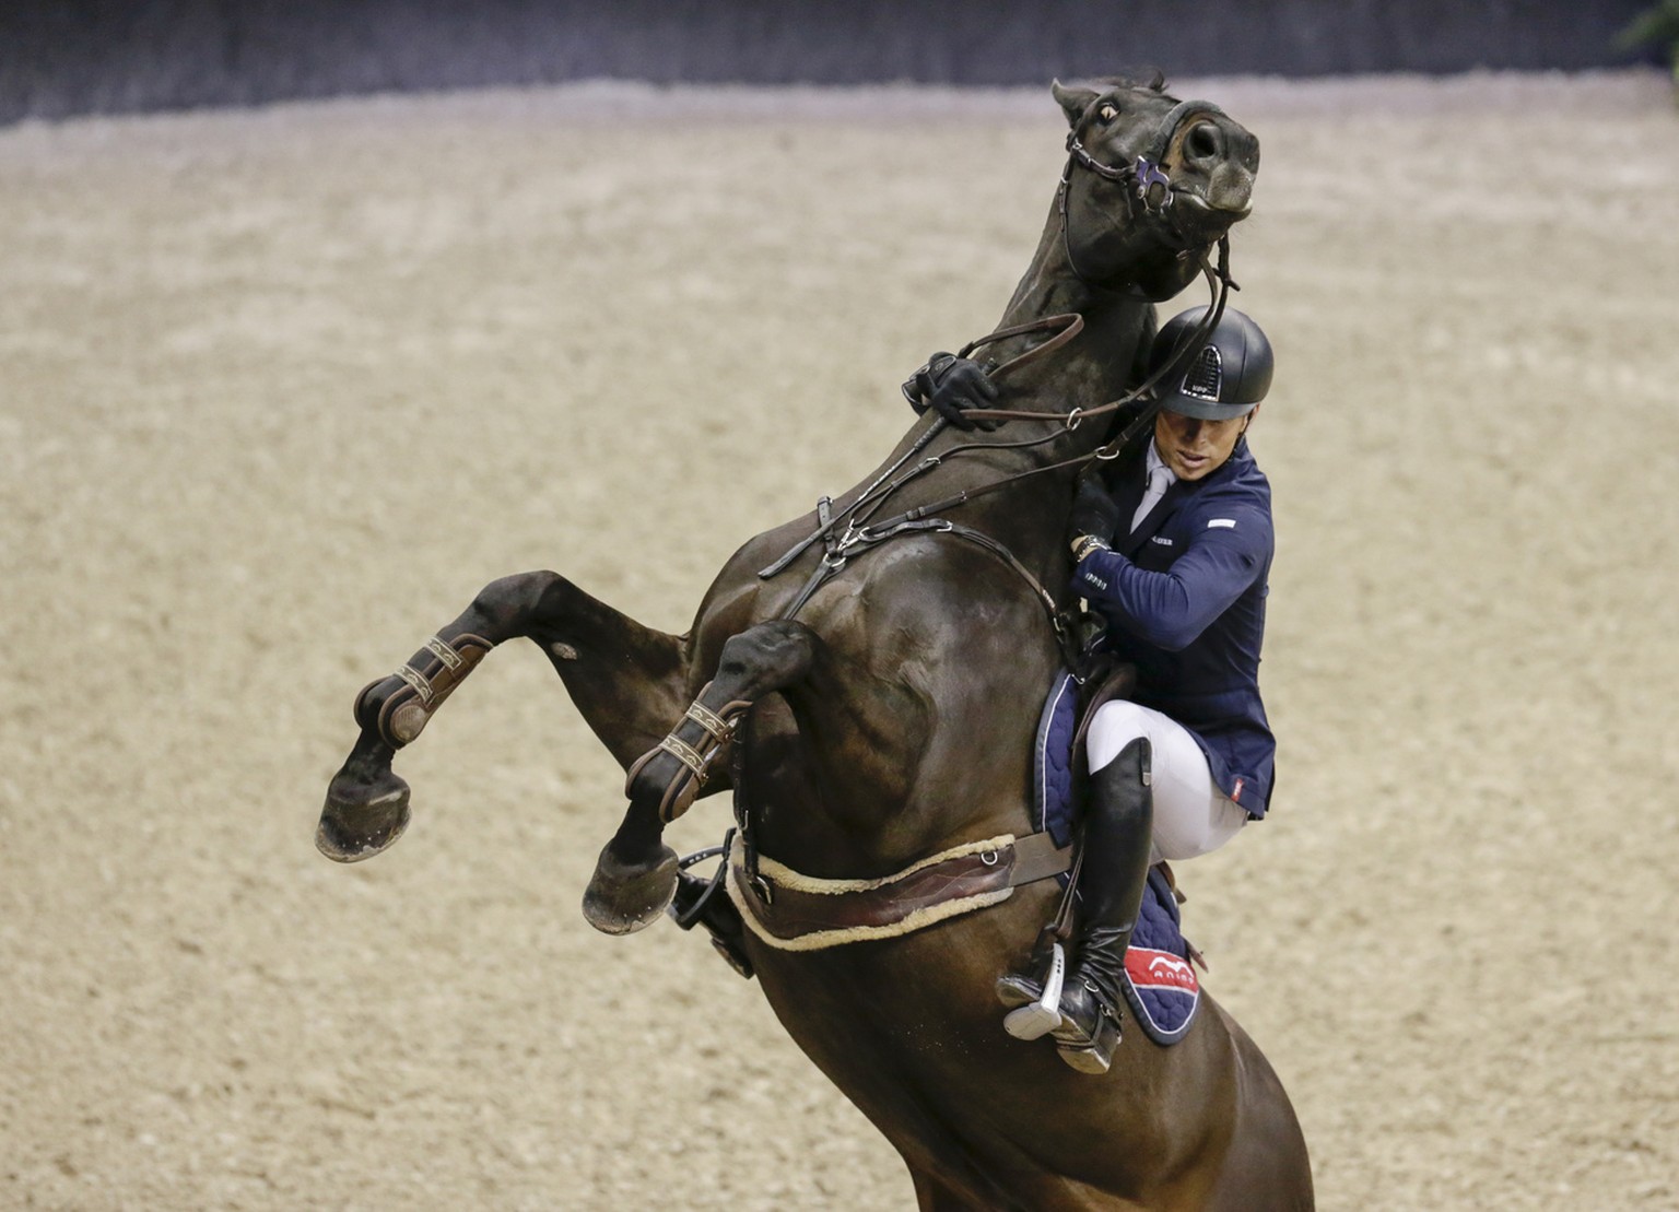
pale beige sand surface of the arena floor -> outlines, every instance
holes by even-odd
[[[1666,84],[1180,92],[1264,143],[1279,351],[1279,784],[1182,871],[1207,984],[1323,1207],[1679,1207]],[[356,690],[485,581],[680,631],[866,472],[1061,129],[594,86],[0,131],[0,1207],[912,1207],[756,985],[583,922],[621,779],[534,648],[405,752],[390,854],[311,834]]]

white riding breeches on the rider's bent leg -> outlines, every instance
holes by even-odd
[[[1206,854],[1247,824],[1247,811],[1212,784],[1207,755],[1189,730],[1153,708],[1125,700],[1096,708],[1085,739],[1091,772],[1118,757],[1137,737],[1148,737],[1152,752],[1155,828],[1150,861]]]

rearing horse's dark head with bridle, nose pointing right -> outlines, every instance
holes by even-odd
[[[1194,279],[1194,253],[1247,215],[1259,139],[1160,77],[1056,81],[1053,92],[1071,126],[1061,223],[1073,272],[1170,299]]]

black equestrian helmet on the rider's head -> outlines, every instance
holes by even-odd
[[[1169,319],[1148,351],[1153,374],[1179,346],[1190,341],[1206,319],[1206,307],[1190,307]],[[1202,421],[1246,416],[1271,389],[1271,342],[1259,326],[1234,307],[1226,307],[1219,326],[1195,349],[1172,359],[1172,369],[1155,384],[1162,408]]]

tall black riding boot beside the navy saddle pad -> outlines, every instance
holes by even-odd
[[[1138,737],[1090,776],[1076,959],[1061,987],[1061,1026],[1049,1032],[1061,1059],[1080,1073],[1106,1073],[1120,1042],[1125,948],[1142,912],[1152,841],[1148,739]],[[1011,1009],[1041,995],[1039,980],[1006,975],[997,982],[997,997]]]

